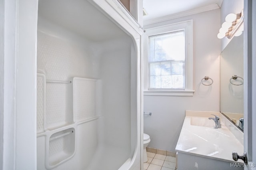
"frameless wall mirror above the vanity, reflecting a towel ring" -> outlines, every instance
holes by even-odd
[[[243,131],[244,40],[234,37],[220,54],[220,112]]]

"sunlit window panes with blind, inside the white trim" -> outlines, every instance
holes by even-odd
[[[185,88],[185,30],[149,37],[149,89]]]

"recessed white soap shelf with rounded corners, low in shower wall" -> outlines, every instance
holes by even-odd
[[[46,134],[46,168],[52,169],[72,158],[76,151],[74,127]]]

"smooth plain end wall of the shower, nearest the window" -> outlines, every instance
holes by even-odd
[[[122,42],[120,42],[122,43]],[[116,49],[101,60],[106,143],[125,147],[130,154],[130,48]],[[116,121],[114,121],[116,120]],[[114,121],[114,123],[113,123]]]

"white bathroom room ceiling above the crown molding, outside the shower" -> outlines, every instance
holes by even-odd
[[[148,15],[143,16],[143,20],[153,20],[156,18],[162,18],[166,16],[172,16],[177,14],[184,14],[191,11],[202,11],[219,8],[222,4],[222,0],[143,0],[143,8]]]

